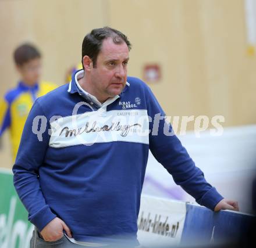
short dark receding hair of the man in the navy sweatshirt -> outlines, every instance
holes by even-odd
[[[109,37],[112,37],[115,44],[122,44],[125,42],[130,51],[131,44],[125,34],[111,27],[95,28],[91,30],[91,33],[84,37],[82,44],[82,64],[83,57],[87,55],[91,58],[91,60],[93,60],[93,67],[96,67],[97,57],[101,51],[102,43],[104,39]]]

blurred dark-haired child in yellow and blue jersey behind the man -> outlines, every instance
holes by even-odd
[[[20,80],[0,100],[0,136],[9,128],[12,157],[15,160],[23,127],[35,99],[58,86],[40,81],[41,54],[33,45],[19,46],[15,49],[13,58]]]

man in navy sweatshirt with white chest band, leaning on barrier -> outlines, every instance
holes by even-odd
[[[205,181],[150,88],[127,77],[130,48],[118,30],[92,30],[83,40],[83,69],[30,111],[13,181],[35,225],[31,247],[139,245],[149,150],[197,203],[238,210]]]

